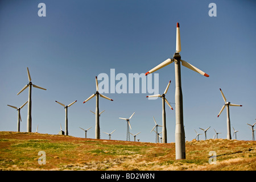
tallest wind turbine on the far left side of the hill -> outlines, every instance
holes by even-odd
[[[25,90],[26,88],[28,88],[28,109],[27,109],[27,132],[31,132],[31,127],[32,127],[32,117],[31,117],[31,106],[32,106],[32,100],[31,100],[31,92],[32,92],[32,86],[34,86],[35,88],[38,89],[43,89],[46,90],[38,85],[32,84],[31,82],[31,76],[30,76],[30,71],[28,70],[27,67],[27,76],[28,76],[28,81],[29,83],[27,85],[25,85],[23,87],[23,89],[21,89],[19,91],[19,93],[17,93],[17,96],[23,92],[23,90]]]

